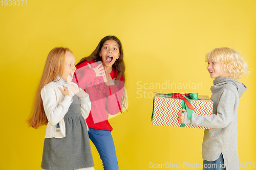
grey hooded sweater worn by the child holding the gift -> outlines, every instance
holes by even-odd
[[[215,161],[222,153],[227,170],[239,169],[238,160],[238,105],[239,98],[247,87],[237,80],[220,77],[210,87],[214,102],[213,114],[199,116],[192,114],[188,120],[185,112],[184,123],[211,128],[204,131],[202,157]]]

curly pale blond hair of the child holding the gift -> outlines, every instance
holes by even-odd
[[[205,56],[205,62],[212,58],[212,61],[220,61],[224,70],[228,72],[226,77],[240,79],[248,76],[247,63],[243,60],[242,54],[228,47],[215,48]]]

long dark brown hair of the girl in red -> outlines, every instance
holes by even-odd
[[[76,66],[83,63],[84,61],[92,61],[92,60],[95,62],[102,61],[102,57],[99,56],[99,52],[102,48],[102,45],[107,40],[115,40],[118,43],[120,56],[119,56],[119,59],[116,60],[116,62],[113,64],[113,67],[117,71],[117,80],[120,80],[120,78],[122,76],[123,82],[125,83],[125,76],[124,76],[125,65],[124,65],[124,61],[123,61],[123,48],[122,48],[121,41],[116,36],[109,35],[109,36],[105,36],[104,38],[102,38],[100,40],[99,44],[97,45],[96,49],[93,51],[93,53],[88,57],[82,58],[79,61],[79,63],[76,64]]]

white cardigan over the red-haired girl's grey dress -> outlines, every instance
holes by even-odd
[[[56,80],[58,80],[59,78],[60,77],[57,77]],[[73,82],[71,82],[70,84],[76,85]],[[69,95],[63,95],[62,92],[58,89],[58,87],[61,87],[63,89],[62,85],[65,85],[65,87],[67,87],[68,82],[61,78],[59,81],[52,81],[48,83],[41,90],[41,98],[48,119],[45,138],[66,137],[66,127],[63,118],[68,112],[69,107],[73,102],[73,99]],[[73,92],[72,94],[74,95]],[[89,95],[87,95],[86,98],[79,99],[82,116],[84,117],[84,119],[86,119],[89,116],[91,110]]]

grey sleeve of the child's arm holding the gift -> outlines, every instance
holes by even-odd
[[[208,128],[225,128],[234,117],[236,100],[239,100],[238,96],[232,90],[225,89],[217,106],[217,114],[200,116],[193,113],[188,120],[187,113],[184,112],[184,123]]]

